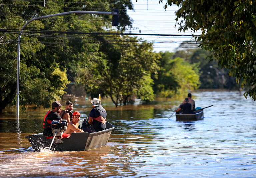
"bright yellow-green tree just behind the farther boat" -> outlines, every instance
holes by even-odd
[[[173,53],[160,52],[158,75],[153,75],[154,91],[160,97],[178,97],[199,87],[199,68]]]

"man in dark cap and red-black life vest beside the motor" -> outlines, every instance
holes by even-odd
[[[51,123],[53,120],[61,120],[62,118],[60,117],[59,113],[61,110],[61,106],[63,104],[60,104],[59,101],[55,101],[52,103],[52,110],[48,111],[45,116],[44,116],[44,122],[43,122],[43,128],[44,132],[43,135],[47,136],[47,138],[53,137],[52,133],[52,128],[51,128]],[[68,138],[70,136],[69,134],[62,134],[63,138]]]

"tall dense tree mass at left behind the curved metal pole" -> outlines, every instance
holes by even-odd
[[[0,3],[0,28],[14,31],[0,36],[0,112],[8,104],[15,104],[18,37],[15,33],[26,21],[71,10],[112,11],[118,8],[118,29],[131,27],[131,19],[126,13],[133,8],[130,0],[49,0],[45,7],[43,1],[0,0]],[[46,30],[104,32],[110,28],[111,16],[95,14],[72,14],[31,22],[21,37],[20,104],[23,109],[26,104],[49,107],[64,94],[68,79],[74,81],[79,69],[88,66],[88,59],[100,58],[99,44],[93,36],[47,33]]]

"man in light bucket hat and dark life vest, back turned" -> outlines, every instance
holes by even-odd
[[[98,132],[106,129],[106,117],[107,111],[101,106],[101,102],[98,98],[91,100],[93,105],[92,110],[89,113],[88,122],[92,124],[91,128],[84,129],[85,132]]]

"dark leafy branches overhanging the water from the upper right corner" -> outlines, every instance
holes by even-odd
[[[162,2],[162,0],[160,1]],[[244,93],[256,100],[256,2],[251,0],[168,0],[177,5],[176,21],[180,31],[201,30],[196,37],[201,47],[213,51],[210,56],[229,70],[229,75],[241,79]]]

